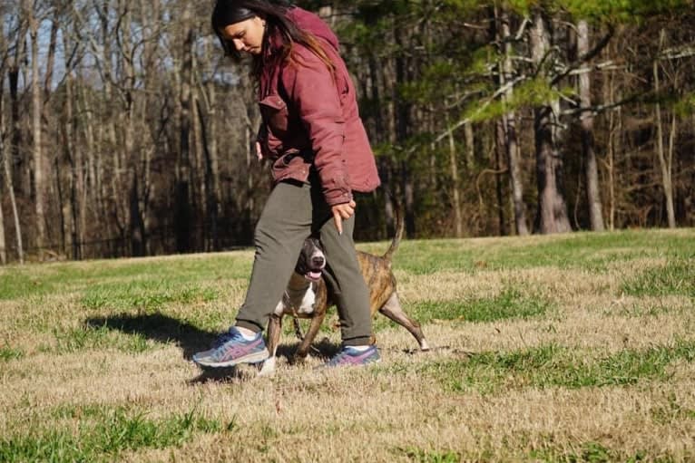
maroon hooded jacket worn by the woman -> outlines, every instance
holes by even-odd
[[[352,190],[372,191],[380,183],[355,86],[328,25],[299,7],[289,9],[288,17],[319,39],[336,72],[299,44],[292,51],[293,63],[273,61],[277,49],[270,45],[267,63],[275,64],[266,66],[259,82],[261,150],[272,161],[276,182],[307,181],[313,164],[328,204],[346,203]]]

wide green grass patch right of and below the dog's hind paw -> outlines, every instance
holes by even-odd
[[[419,367],[419,372],[431,377],[446,391],[455,392],[624,386],[641,380],[666,381],[671,362],[695,360],[695,341],[676,341],[673,346],[644,351],[628,349],[595,355],[595,352],[545,344],[512,352],[480,352],[467,359],[426,362]],[[406,370],[397,364],[379,369]]]

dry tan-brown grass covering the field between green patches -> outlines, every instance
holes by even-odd
[[[507,239],[504,246],[495,239],[466,240],[465,246],[503,252],[510,246],[560,239],[567,237]],[[228,257],[251,259],[248,252]],[[147,263],[205,258],[152,258]],[[257,378],[249,366],[224,379],[201,377],[183,355],[181,342],[190,340],[176,338],[169,343],[150,341],[143,352],[128,352],[114,342],[131,334],[110,333],[113,339],[106,338],[103,345],[61,351],[55,327],[79,329],[88,317],[113,315],[108,307],[85,311],[80,288],[86,285],[79,281],[64,285],[64,291],[0,301],[0,347],[22,352],[19,358],[0,361],[0,435],[5,442],[50,429],[80,435],[81,425],[92,420],[81,410],[123,407],[152,420],[196,410],[220,422],[221,429],[197,432],[178,446],[122,449],[102,456],[106,460],[610,461],[643,456],[689,461],[695,458],[695,365],[682,357],[668,364],[665,378],[602,387],[503,381],[502,390],[452,391],[423,373],[438,362],[465,362],[479,352],[517,352],[552,344],[601,358],[623,350],[670,346],[674,340],[692,342],[692,298],[622,291],[625,278],[666,260],[618,260],[602,272],[529,266],[415,275],[396,268],[406,306],[494,297],[505,287],[514,287],[524,297],[547,298],[553,306],[542,316],[521,320],[434,320],[424,326],[436,347],[432,352],[407,352],[416,347],[410,334],[389,327],[377,333],[383,362],[376,369],[320,372],[312,367],[322,359],[290,365],[282,357],[271,379]],[[96,264],[65,265],[89,271]],[[47,271],[36,267],[38,273]],[[201,331],[221,328],[233,316],[230,307],[240,304],[246,285],[243,280],[228,283],[210,276],[204,284],[216,290],[216,299],[173,302],[162,311],[178,320],[217,313],[220,323],[210,322],[214,326]],[[336,333],[328,338],[338,342]],[[289,336],[283,342],[296,343]],[[56,414],[64,409],[73,413]]]

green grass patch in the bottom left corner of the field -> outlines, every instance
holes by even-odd
[[[0,439],[0,461],[112,461],[124,450],[178,447],[198,433],[221,432],[219,420],[211,420],[196,410],[152,420],[145,412],[124,408],[100,410],[75,409],[80,421],[71,429],[34,430],[31,433]],[[64,411],[62,411],[64,413]]]

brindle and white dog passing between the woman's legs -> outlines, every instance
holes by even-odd
[[[397,222],[396,234],[384,256],[357,251],[357,261],[369,288],[371,315],[374,316],[378,311],[405,327],[416,338],[420,350],[427,351],[429,345],[420,324],[404,312],[396,293],[396,277],[391,270],[391,260],[403,236],[402,215],[398,215]],[[322,276],[326,265],[326,256],[320,242],[315,237],[308,237],[304,241],[294,272],[289,278],[285,294],[270,315],[267,342],[270,356],[261,367],[261,375],[272,374],[275,371],[282,318],[285,315],[293,316],[295,321],[298,318],[311,320],[307,333],[299,343],[294,360],[303,360],[307,357],[311,342],[316,338],[321,323],[326,318],[328,307],[335,304],[326,279]],[[299,334],[299,323],[296,327]],[[372,338],[371,341],[374,342],[374,337]]]

